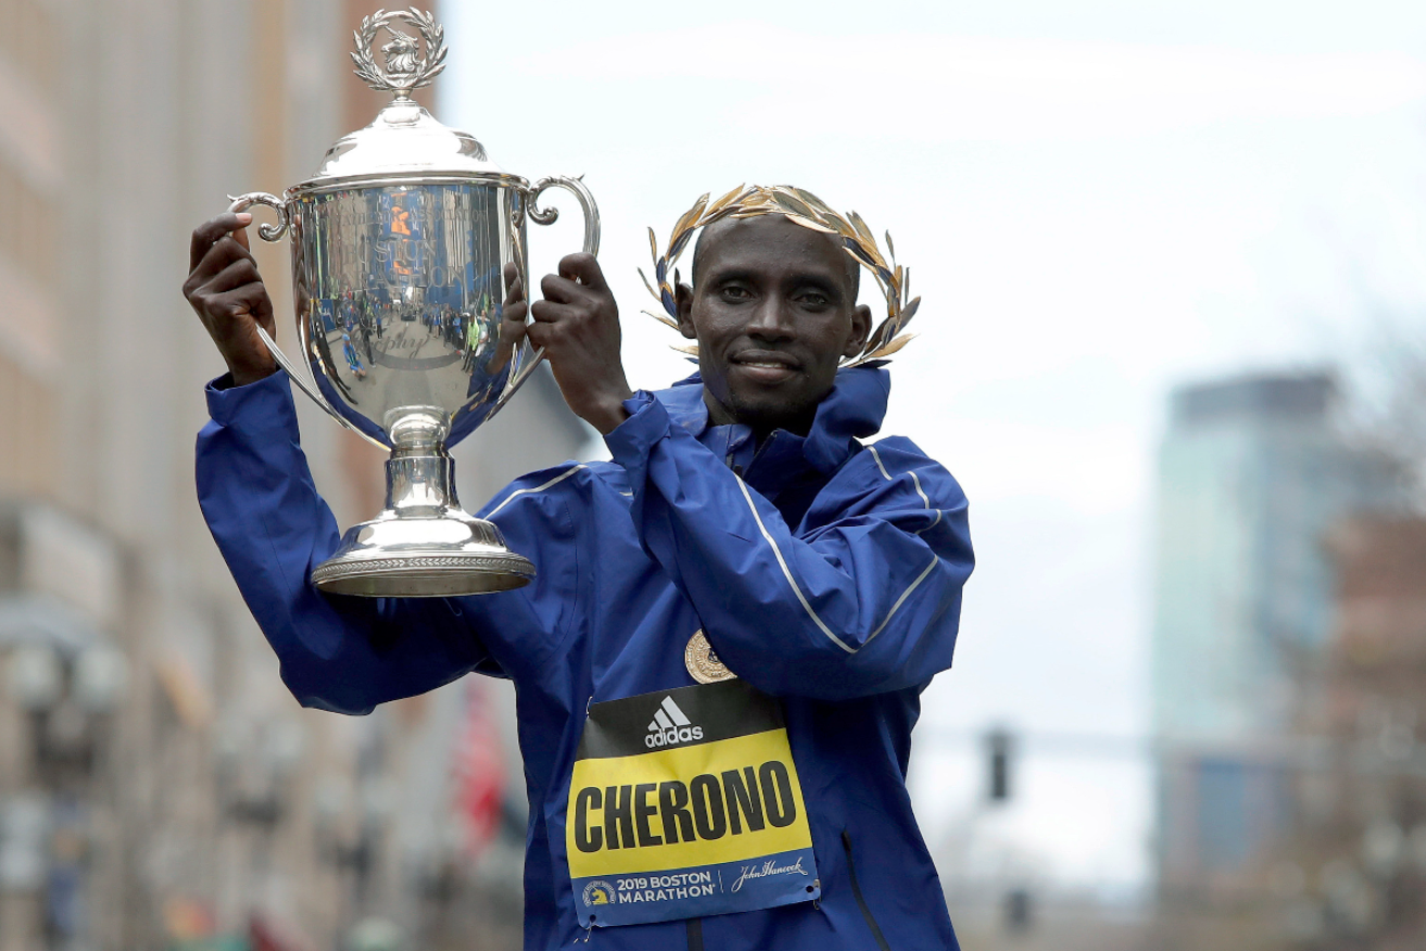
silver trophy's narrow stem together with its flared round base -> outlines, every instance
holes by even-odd
[[[335,595],[452,597],[523,587],[533,576],[495,525],[461,509],[445,446],[422,442],[392,449],[386,509],[352,526],[312,583]]]

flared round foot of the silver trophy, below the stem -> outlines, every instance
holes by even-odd
[[[529,559],[509,550],[483,519],[459,509],[436,518],[388,509],[352,526],[337,553],[312,570],[312,583],[332,595],[459,597],[523,587],[533,576]]]

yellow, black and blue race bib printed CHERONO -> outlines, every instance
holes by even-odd
[[[590,706],[565,845],[586,928],[821,894],[781,704],[743,680]]]

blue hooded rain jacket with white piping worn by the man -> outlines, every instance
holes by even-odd
[[[612,462],[528,475],[481,512],[535,562],[520,590],[462,599],[327,597],[311,569],[338,528],[298,446],[281,375],[208,389],[198,499],[232,576],[311,707],[368,713],[471,670],[511,677],[530,801],[525,947],[586,937],[565,857],[588,704],[693,683],[699,629],[780,697],[820,903],[596,928],[613,950],[955,948],[906,788],[920,692],[951,666],[973,556],[965,496],[910,441],[861,445],[884,369],[844,369],[810,433],[710,426],[699,378],[640,391]]]

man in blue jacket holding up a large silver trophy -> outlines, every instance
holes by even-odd
[[[525,947],[957,947],[906,770],[918,694],[951,663],[965,499],[908,441],[860,442],[890,384],[838,371],[870,328],[840,242],[777,214],[704,230],[674,292],[699,374],[659,394],[625,378],[590,255],[529,307],[508,271],[502,334],[545,348],[613,461],[481,512],[538,566],[528,587],[368,600],[307,580],[338,532],[254,331],[272,308],[248,221],[194,231],[184,288],[230,369],[198,439],[204,515],[304,704],[515,682]]]

